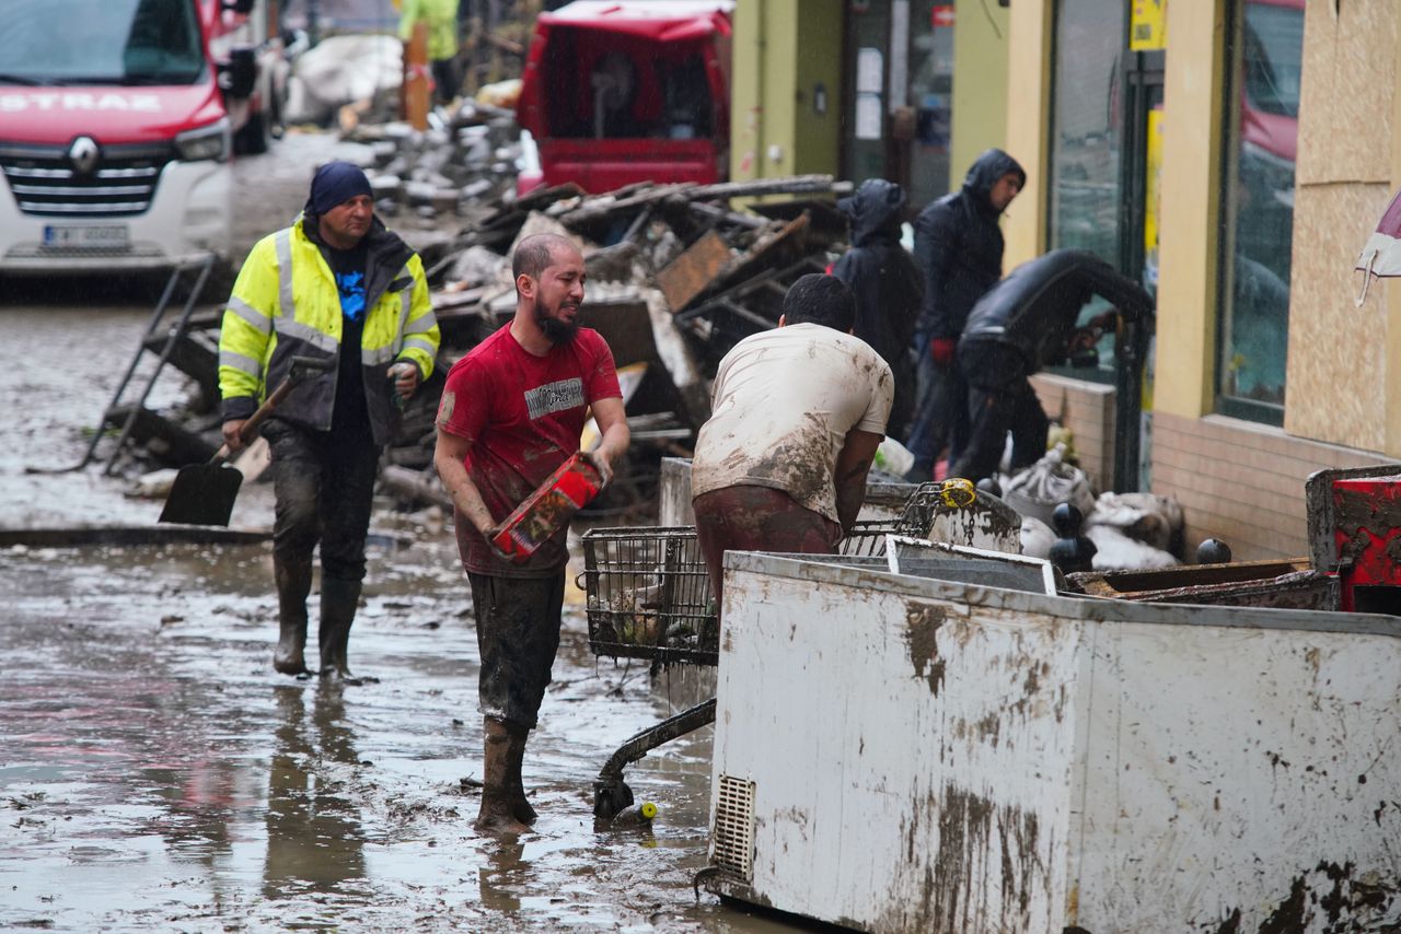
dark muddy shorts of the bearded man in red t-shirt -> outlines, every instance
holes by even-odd
[[[479,710],[534,730],[559,651],[565,571],[542,578],[468,573],[467,580],[482,655]]]

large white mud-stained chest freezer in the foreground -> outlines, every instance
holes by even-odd
[[[1401,924],[1395,618],[1035,564],[727,555],[706,888],[866,931]]]

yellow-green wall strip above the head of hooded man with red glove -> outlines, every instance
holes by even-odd
[[[978,154],[1007,144],[1007,39],[1010,11],[991,0],[957,7],[954,112],[948,188],[957,190]],[[1027,171],[1035,171],[1023,161]]]

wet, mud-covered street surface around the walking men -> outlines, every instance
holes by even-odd
[[[244,248],[333,151],[289,137],[240,164]],[[109,277],[0,290],[0,528],[154,524],[160,501],[101,459],[27,472],[81,458],[154,297]],[[184,391],[163,377],[151,400]],[[270,520],[270,487],[247,487],[234,525]],[[478,653],[451,529],[385,503],[371,534],[350,661],[377,683],[345,688],[273,674],[268,545],[0,549],[0,928],[786,930],[692,891],[709,730],[628,770],[650,828],[595,826],[594,774],[671,709],[637,662],[590,654],[579,594],[525,760],[537,832],[474,835]]]

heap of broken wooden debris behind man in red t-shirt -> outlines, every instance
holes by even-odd
[[[709,417],[710,379],[740,339],[776,326],[794,279],[822,272],[843,248],[834,207],[849,183],[827,175],[719,185],[633,185],[586,195],[574,185],[472,202],[474,220],[426,256],[443,330],[439,372],[405,413],[385,483],[410,499],[436,493],[433,409],[446,371],[516,311],[510,255],[524,237],[579,242],[588,274],[584,316],[614,351],[633,448],[595,511],[650,511],[663,455],[688,455]],[[738,199],[786,196],[740,209]],[[422,430],[423,434],[417,434]]]

